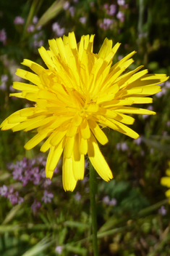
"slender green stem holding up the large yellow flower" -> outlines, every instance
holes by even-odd
[[[96,176],[93,165],[89,164],[90,169],[90,208],[91,208],[91,220],[92,220],[92,232],[93,232],[93,255],[98,256],[98,239],[97,239],[97,218],[96,218],[96,206],[95,206],[95,191],[96,191]]]

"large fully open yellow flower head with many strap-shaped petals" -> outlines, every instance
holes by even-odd
[[[98,54],[93,53],[92,36],[82,36],[77,44],[75,33],[63,39],[49,40],[49,50],[41,47],[39,53],[47,68],[24,60],[23,65],[34,73],[17,69],[17,76],[32,84],[14,82],[13,88],[22,92],[11,96],[22,97],[35,103],[13,113],[1,124],[1,129],[25,132],[36,129],[37,135],[25,148],[35,147],[45,138],[41,151],[50,149],[46,163],[46,177],[51,178],[54,168],[63,154],[63,185],[65,191],[73,191],[77,180],[84,176],[85,155],[103,180],[113,175],[98,143],[108,142],[103,132],[109,127],[137,139],[138,135],[126,124],[135,121],[127,113],[155,114],[142,108],[132,108],[138,103],[152,103],[147,97],[161,91],[161,84],[168,78],[163,74],[147,74],[148,70],[124,73],[133,63],[130,53],[112,65],[119,48],[112,48],[112,41],[105,39]],[[112,65],[112,66],[111,66]]]

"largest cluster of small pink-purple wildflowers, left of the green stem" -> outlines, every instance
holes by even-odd
[[[38,156],[35,159],[27,159],[24,157],[22,161],[17,161],[15,164],[7,164],[8,169],[12,171],[13,179],[20,181],[23,187],[28,185],[25,189],[28,188],[28,191],[30,191],[29,185],[38,186],[38,188],[35,188],[35,191],[38,191],[38,193],[35,192],[35,198],[41,198],[46,204],[47,202],[51,202],[54,195],[53,193],[48,192],[51,180],[46,179],[45,166],[46,161],[43,156]],[[58,169],[57,172],[59,172]],[[24,201],[24,198],[20,196],[20,193],[25,193],[25,189],[14,191],[12,186],[8,188],[6,185],[3,185],[0,187],[0,196],[9,199],[12,204],[21,204]],[[45,191],[43,191],[44,189]],[[37,199],[34,200],[31,209],[35,211],[35,209],[40,207],[40,201],[37,201]]]

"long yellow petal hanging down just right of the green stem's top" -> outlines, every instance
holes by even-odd
[[[98,175],[100,175],[103,180],[109,181],[113,178],[111,169],[98,148],[98,143],[93,135],[91,135],[88,140],[88,157],[96,172],[98,172]]]

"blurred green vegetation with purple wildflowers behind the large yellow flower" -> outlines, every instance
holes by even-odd
[[[170,1],[28,0],[0,3],[0,121],[29,102],[9,97],[23,58],[43,65],[38,47],[75,31],[95,33],[94,52],[103,39],[121,42],[114,61],[135,50],[135,63],[150,73],[170,74]],[[170,83],[145,106],[156,116],[135,116],[132,140],[106,129],[101,147],[114,180],[98,177],[98,239],[101,256],[170,255],[169,204],[160,184],[169,167]],[[64,192],[61,166],[52,182],[44,177],[46,154],[23,145],[31,132],[1,132],[0,255],[93,255],[88,167],[73,193]]]

